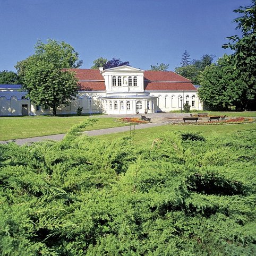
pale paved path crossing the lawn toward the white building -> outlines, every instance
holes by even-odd
[[[138,115],[101,115],[101,116],[92,116],[96,118],[100,117],[138,117]],[[156,127],[161,125],[166,125],[170,123],[170,120],[165,119],[166,117],[170,118],[182,118],[183,116],[188,116],[188,114],[182,113],[155,113],[155,114],[146,114],[147,117],[151,118],[152,123],[149,124],[139,124],[135,125],[135,130],[139,129],[145,129],[149,127]],[[140,116],[139,116],[140,117]],[[132,125],[133,129],[133,125]],[[110,133],[117,133],[117,132],[126,132],[130,131],[130,125],[127,126],[121,126],[121,127],[113,127],[113,128],[107,128],[107,129],[100,129],[100,130],[93,130],[93,131],[86,131],[83,133],[88,134],[89,136],[97,136],[97,135],[104,135],[104,134],[110,134]],[[0,141],[0,143],[8,143],[11,141],[16,142],[18,145],[23,144],[31,144],[33,142],[43,141],[43,140],[62,140],[64,138],[65,134],[56,134],[56,135],[47,135],[47,136],[39,136],[39,137],[33,137],[33,138],[25,138],[25,139],[16,139],[16,140],[8,140],[8,141]]]

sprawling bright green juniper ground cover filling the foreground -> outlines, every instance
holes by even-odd
[[[2,255],[255,255],[255,130],[0,145]]]

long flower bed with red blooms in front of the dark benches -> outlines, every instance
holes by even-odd
[[[197,122],[197,123],[174,123],[173,125],[218,125],[218,124],[243,124],[243,123],[252,123],[255,122],[256,119],[254,118],[245,118],[245,117],[235,117],[228,120],[221,120],[221,121],[211,121],[211,122]]]

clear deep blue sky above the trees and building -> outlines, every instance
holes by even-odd
[[[65,41],[90,69],[98,57],[120,58],[133,67],[180,66],[191,59],[217,58],[228,36],[240,35],[233,10],[250,0],[0,0],[0,71],[34,53],[38,39]]]

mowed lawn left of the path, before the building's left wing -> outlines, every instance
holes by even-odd
[[[94,117],[94,116],[93,116]],[[26,116],[26,117],[1,117],[0,141],[30,138],[53,134],[67,133],[69,129],[85,118],[84,116]],[[97,118],[97,116],[95,116]],[[86,131],[105,129],[110,127],[126,126],[125,123],[114,122],[115,118],[101,117],[93,126],[88,126]]]

